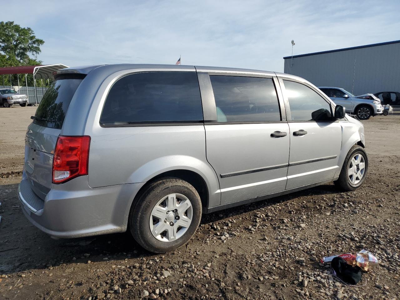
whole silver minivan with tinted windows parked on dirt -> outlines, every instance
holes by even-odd
[[[130,230],[162,253],[202,214],[368,172],[364,127],[303,78],[232,68],[66,68],[26,133],[18,195],[51,236]]]

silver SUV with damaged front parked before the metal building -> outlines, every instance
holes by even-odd
[[[360,120],[383,114],[383,107],[378,100],[357,98],[343,88],[319,87],[333,102],[344,106],[348,114],[355,114]]]

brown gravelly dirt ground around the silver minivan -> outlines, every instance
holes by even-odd
[[[17,186],[34,111],[0,108],[0,299],[400,299],[400,111],[363,122],[360,189],[327,184],[204,215],[164,255],[128,233],[53,240],[26,220]],[[380,264],[357,287],[319,263],[361,248]]]

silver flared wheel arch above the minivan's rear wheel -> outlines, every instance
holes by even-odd
[[[148,182],[164,172],[174,170],[189,170],[200,175],[208,189],[208,206],[220,205],[221,194],[219,192],[218,177],[208,162],[204,162],[196,157],[170,155],[156,158],[136,169],[129,177],[128,182]]]

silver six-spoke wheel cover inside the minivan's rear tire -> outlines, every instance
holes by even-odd
[[[182,194],[169,194],[160,199],[150,215],[150,231],[162,242],[177,240],[192,223],[193,207]]]

